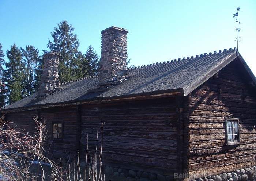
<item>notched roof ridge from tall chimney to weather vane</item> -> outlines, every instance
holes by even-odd
[[[219,53],[223,53],[223,52],[227,52],[227,51],[233,51],[233,50],[237,50],[236,47],[233,48],[229,48],[229,50],[227,49],[224,49],[223,51],[222,50],[219,50],[218,52],[217,51],[214,51],[213,53],[212,52],[209,52],[209,53],[204,53],[204,54],[200,54],[200,55],[196,55],[196,57],[194,56],[191,56],[191,57],[183,57],[182,59],[181,58],[178,58],[177,59],[174,59],[174,60],[171,60],[171,61],[164,61],[164,62],[160,62],[160,63],[153,63],[153,64],[148,64],[148,65],[142,65],[142,66],[138,66],[138,67],[129,67],[128,70],[132,70],[132,69],[140,69],[140,68],[143,68],[143,67],[148,67],[148,66],[154,66],[154,65],[162,65],[162,64],[166,64],[166,63],[172,63],[172,62],[178,62],[178,61],[181,61],[181,60],[188,60],[188,59],[193,59],[193,58],[199,58],[199,57],[207,57],[208,55],[213,55],[213,54],[219,54]]]

